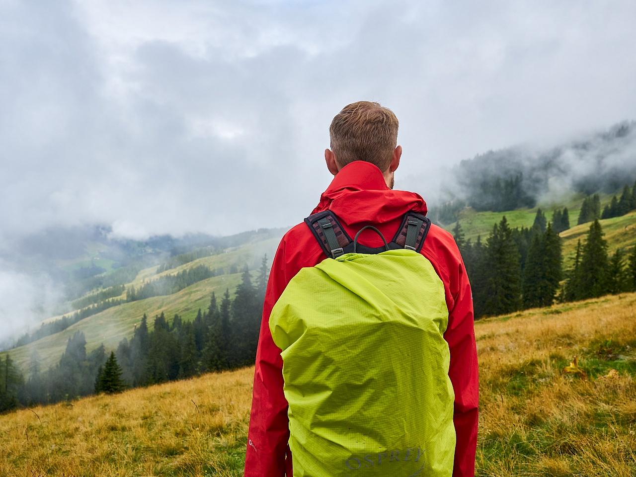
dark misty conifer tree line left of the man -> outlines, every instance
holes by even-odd
[[[245,266],[233,300],[228,290],[219,302],[212,293],[207,310],[190,322],[179,315],[168,321],[162,313],[150,325],[144,315],[108,357],[103,345],[87,353],[79,331],[56,366],[42,371],[34,354],[26,380],[7,355],[0,359],[0,412],[253,364],[267,275],[266,258],[255,280]]]

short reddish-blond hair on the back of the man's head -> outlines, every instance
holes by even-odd
[[[342,108],[329,126],[331,150],[340,167],[366,161],[389,169],[397,146],[396,115],[377,102],[357,101]]]

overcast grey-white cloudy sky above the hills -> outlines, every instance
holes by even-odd
[[[440,165],[636,119],[636,2],[0,0],[0,239],[294,225],[360,99],[434,198]]]

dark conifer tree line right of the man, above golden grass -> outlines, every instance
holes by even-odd
[[[471,280],[476,318],[636,290],[636,246],[629,254],[618,249],[609,257],[597,219],[585,242],[579,240],[572,268],[563,270],[556,232],[565,226],[563,211],[555,216],[548,223],[539,209],[530,228],[511,228],[504,216],[485,243],[481,236],[474,243],[465,240],[459,222],[455,225],[453,236]]]

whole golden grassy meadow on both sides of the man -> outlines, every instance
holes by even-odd
[[[635,311],[628,293],[475,324],[478,476],[636,476]],[[0,475],[240,476],[252,373],[0,416]]]

